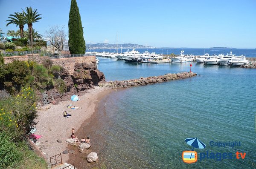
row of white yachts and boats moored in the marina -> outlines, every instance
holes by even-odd
[[[132,63],[183,63],[183,62],[192,62],[196,61],[197,63],[204,63],[205,65],[231,65],[231,66],[241,66],[241,65],[247,65],[249,63],[248,60],[246,60],[244,55],[236,56],[235,54],[224,55],[212,55],[204,54],[203,56],[199,56],[195,59],[194,55],[185,55],[184,51],[180,51],[180,54],[176,57],[163,57],[163,54],[156,54],[156,53],[150,53],[148,51],[144,53],[140,53],[136,51],[135,49],[132,49],[131,51],[127,51],[124,53],[110,53],[110,52],[90,52],[87,54],[96,55],[99,57],[111,57],[111,58],[117,58],[121,60],[125,60],[125,62],[132,62]],[[96,62],[99,63],[99,59],[96,58]]]

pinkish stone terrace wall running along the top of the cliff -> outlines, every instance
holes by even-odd
[[[4,63],[12,63],[13,60],[20,60],[20,61],[28,61],[34,60],[37,63],[42,63],[43,60],[50,59],[49,57],[40,57],[39,54],[28,54],[25,56],[10,56],[10,57],[3,57]],[[59,58],[59,59],[52,59],[52,63],[54,65],[60,65],[66,68],[69,74],[74,72],[75,63],[91,63],[96,62],[95,56],[84,56],[84,57],[68,57],[68,58]]]

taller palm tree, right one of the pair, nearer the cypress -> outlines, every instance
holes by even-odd
[[[33,35],[32,35],[32,26],[33,23],[38,22],[38,20],[42,19],[39,17],[41,14],[38,14],[37,9],[32,10],[32,7],[26,7],[26,12],[22,9],[23,15],[25,18],[25,22],[28,24],[29,27],[29,41],[32,44],[33,42]]]

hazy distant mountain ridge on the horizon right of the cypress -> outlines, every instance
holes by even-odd
[[[155,48],[153,46],[144,46],[144,45],[138,45],[138,44],[132,44],[132,43],[124,43],[124,44],[118,44],[118,48],[134,48],[134,49],[139,49],[139,48]],[[87,49],[114,49],[116,48],[116,44],[110,44],[110,43],[96,43],[96,44],[86,44]]]

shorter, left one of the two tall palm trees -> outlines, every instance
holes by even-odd
[[[20,37],[23,37],[23,28],[26,24],[23,13],[15,12],[14,14],[10,14],[10,17],[8,18],[9,20],[6,20],[6,22],[9,21],[9,23],[7,23],[6,26],[8,26],[9,24],[15,24],[16,26],[19,26]]]

